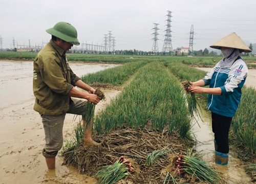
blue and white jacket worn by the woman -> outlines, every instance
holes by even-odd
[[[236,113],[240,103],[248,68],[241,57],[234,60],[230,68],[221,68],[220,62],[203,78],[210,88],[220,87],[221,95],[208,95],[208,109],[221,116],[230,117]]]

